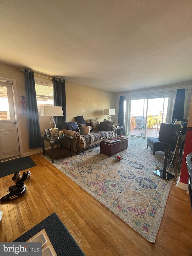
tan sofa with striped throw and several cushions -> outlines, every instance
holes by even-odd
[[[103,122],[99,123],[98,118],[95,118],[89,119],[89,123],[86,123],[84,118],[80,117],[75,117],[76,122],[63,122],[60,129],[65,135],[73,137],[73,151],[77,154],[99,146],[102,140],[115,137],[115,121],[104,119]],[[64,147],[70,149],[69,144],[64,144]]]

